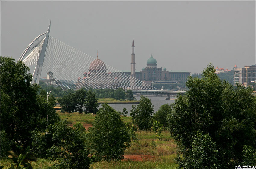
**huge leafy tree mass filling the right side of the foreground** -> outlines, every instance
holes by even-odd
[[[234,89],[214,72],[210,64],[201,79],[189,77],[186,82],[189,91],[176,98],[173,111],[167,117],[171,136],[177,141],[177,152],[183,154],[183,158],[178,155],[176,161],[179,167],[192,163],[192,155],[200,156],[192,153],[197,133],[208,134],[207,137],[216,143],[214,149],[219,159],[216,166],[227,168],[242,164],[244,145],[255,149],[255,96],[252,90],[240,85]]]

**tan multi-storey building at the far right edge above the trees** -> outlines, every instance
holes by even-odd
[[[245,66],[244,68],[237,68],[234,66],[234,86],[236,83],[242,84],[245,87],[256,80],[256,66]]]

